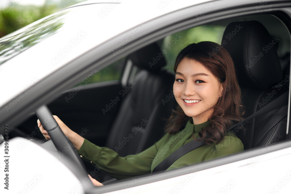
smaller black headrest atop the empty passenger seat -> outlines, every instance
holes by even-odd
[[[135,51],[129,55],[129,58],[134,65],[151,72],[157,72],[166,65],[164,53],[159,49],[157,43]]]

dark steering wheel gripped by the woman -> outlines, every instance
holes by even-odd
[[[63,154],[62,159],[66,161],[66,165],[69,164],[69,166],[67,165],[68,168],[76,175],[80,182],[86,181],[87,184],[83,185],[84,189],[86,190],[86,188],[94,187],[93,183],[88,177],[85,165],[81,160],[77,150],[69,138],[65,136],[61,128],[58,126],[58,123],[52,116],[49,108],[46,105],[42,105],[34,112],[42,123],[43,128],[51,137],[51,140],[58,152]]]

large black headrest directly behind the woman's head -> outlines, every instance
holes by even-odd
[[[232,22],[226,27],[221,46],[233,58],[240,86],[263,89],[282,81],[278,40],[258,21]]]

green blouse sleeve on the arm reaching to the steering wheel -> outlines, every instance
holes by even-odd
[[[83,160],[95,164],[116,179],[130,178],[151,172],[152,161],[164,137],[143,152],[125,157],[120,157],[112,149],[99,147],[85,139],[79,154],[82,155]]]

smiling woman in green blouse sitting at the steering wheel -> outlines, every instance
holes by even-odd
[[[243,151],[239,138],[227,131],[234,122],[242,121],[244,114],[228,52],[214,42],[188,45],[178,54],[174,72],[177,110],[168,120],[166,134],[139,154],[119,157],[113,150],[94,145],[58,117],[54,118],[84,160],[117,179],[151,173],[161,161],[193,139],[204,141],[204,145],[179,158],[167,170]],[[38,126],[45,138],[50,139],[39,120]]]

